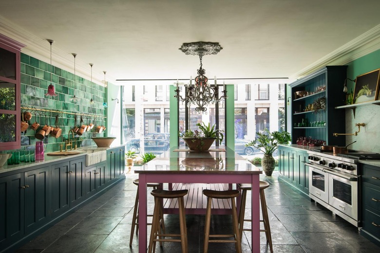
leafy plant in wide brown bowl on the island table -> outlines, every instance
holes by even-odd
[[[199,130],[187,130],[185,133],[179,133],[179,137],[184,140],[190,150],[208,150],[215,140],[219,144],[222,143],[223,130],[215,129],[215,125],[210,127],[210,124],[206,125],[204,122],[198,123],[197,126]]]

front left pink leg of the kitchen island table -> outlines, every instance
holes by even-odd
[[[147,252],[147,177],[138,176],[138,252]]]

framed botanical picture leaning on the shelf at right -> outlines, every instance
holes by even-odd
[[[379,97],[379,77],[380,69],[356,77],[354,104],[375,101]]]

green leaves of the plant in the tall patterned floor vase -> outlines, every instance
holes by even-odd
[[[288,132],[269,132],[267,128],[264,132],[256,132],[258,137],[246,144],[246,146],[254,146],[264,152],[266,155],[271,155],[278,148],[278,144],[285,144],[291,140],[290,133]]]

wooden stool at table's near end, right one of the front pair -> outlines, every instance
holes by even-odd
[[[214,190],[203,190],[203,194],[207,196],[207,210],[205,219],[205,239],[203,244],[203,252],[207,253],[209,250],[209,242],[228,242],[235,243],[235,248],[237,253],[242,252],[241,236],[239,233],[238,217],[236,212],[235,198],[239,196],[240,192],[238,190],[228,190],[228,191],[214,191]],[[231,209],[232,209],[232,225],[233,225],[233,235],[210,235],[210,219],[211,219],[211,202],[212,199],[231,199]],[[210,237],[233,237],[233,240],[222,240],[215,239],[210,240]]]

